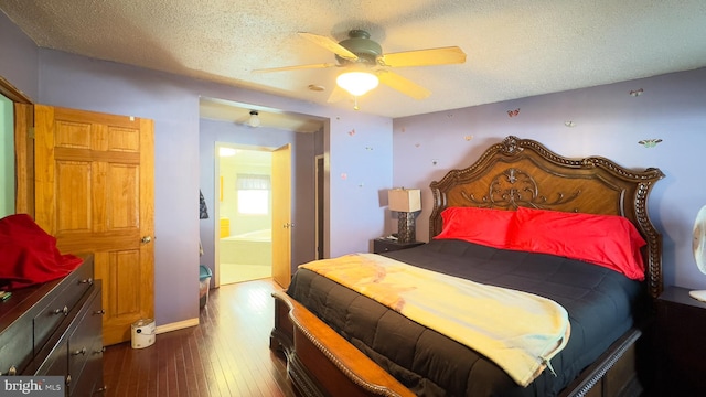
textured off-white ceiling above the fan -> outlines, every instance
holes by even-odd
[[[386,86],[361,97],[360,111],[392,118],[706,66],[704,0],[0,0],[0,10],[42,47],[319,104],[339,69],[252,71],[335,62],[297,32],[341,41],[364,29],[385,53],[466,52],[461,65],[395,69],[427,99]]]

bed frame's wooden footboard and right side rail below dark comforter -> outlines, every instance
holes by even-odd
[[[302,396],[414,396],[361,351],[284,291],[275,298],[270,348],[281,350],[287,371]],[[565,396],[639,396],[633,329],[618,340],[561,394]]]

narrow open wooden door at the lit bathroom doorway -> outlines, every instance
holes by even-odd
[[[272,279],[291,281],[291,146],[272,151]]]

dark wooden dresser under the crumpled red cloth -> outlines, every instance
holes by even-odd
[[[71,275],[0,303],[0,375],[63,376],[66,396],[104,390],[100,280],[92,255]]]

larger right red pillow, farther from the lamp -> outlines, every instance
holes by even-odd
[[[510,249],[579,259],[644,280],[640,248],[646,243],[628,218],[526,207],[515,214]]]

